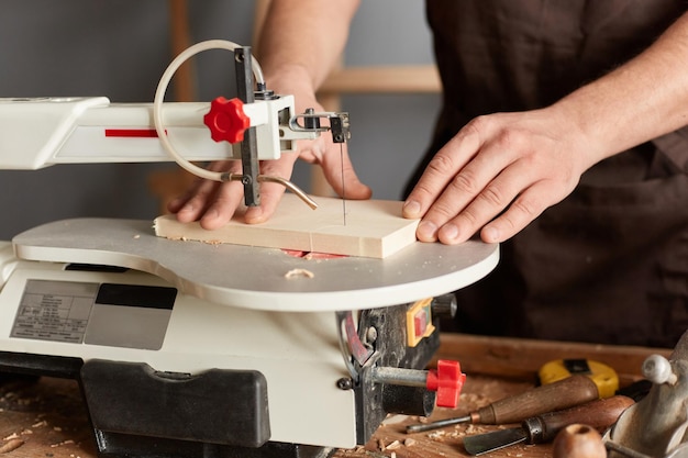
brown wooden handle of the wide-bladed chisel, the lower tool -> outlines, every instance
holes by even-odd
[[[574,423],[582,423],[593,428],[607,428],[632,404],[631,398],[622,395],[598,399],[565,411],[528,418],[523,422],[523,428],[528,433],[529,444],[540,444],[552,440],[559,431]]]

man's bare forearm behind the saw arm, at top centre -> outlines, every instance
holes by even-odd
[[[359,0],[273,1],[257,49],[268,86],[288,75],[317,90],[344,49],[358,3]]]

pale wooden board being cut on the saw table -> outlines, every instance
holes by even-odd
[[[402,202],[387,200],[346,201],[317,198],[311,210],[287,193],[275,215],[263,224],[245,224],[243,211],[224,227],[203,230],[198,222],[179,223],[174,215],[155,220],[155,233],[171,239],[230,243],[293,249],[308,253],[385,258],[415,242],[418,220],[401,216]]]

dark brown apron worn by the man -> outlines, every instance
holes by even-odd
[[[444,100],[418,172],[479,114],[545,107],[647,47],[680,0],[428,0]],[[673,347],[688,328],[688,130],[604,160],[457,292],[455,331]]]

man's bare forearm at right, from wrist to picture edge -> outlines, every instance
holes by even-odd
[[[588,167],[688,124],[688,14],[636,58],[551,107],[589,146]]]

